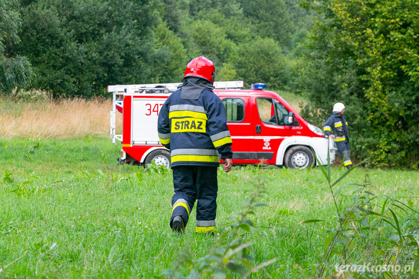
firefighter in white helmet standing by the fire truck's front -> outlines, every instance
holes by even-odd
[[[323,131],[328,137],[335,139],[337,151],[343,160],[343,165],[349,169],[352,167],[352,161],[349,146],[348,122],[343,117],[344,110],[344,104],[335,103],[333,106],[333,115],[324,123]]]

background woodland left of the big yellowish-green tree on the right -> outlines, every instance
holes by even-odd
[[[262,43],[263,53],[254,54],[262,55],[259,60],[278,59],[281,72],[284,63],[294,60],[291,54],[284,62],[282,52],[303,40],[308,25],[308,21],[299,23],[307,12],[297,3],[2,1],[0,91],[10,94],[14,90],[15,97],[21,88],[40,89],[52,97],[91,97],[106,94],[109,84],[180,82],[186,63],[199,55],[215,63],[218,81],[237,79],[241,69],[236,58],[260,47],[260,40],[267,38],[272,41]],[[251,57],[251,61],[256,59]],[[252,77],[251,73],[240,76],[249,78],[247,83],[257,79],[297,88],[282,74]]]

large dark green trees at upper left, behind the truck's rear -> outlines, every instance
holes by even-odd
[[[23,9],[21,44],[35,88],[54,96],[104,93],[106,84],[157,81],[170,57],[151,33],[153,1],[37,1]]]

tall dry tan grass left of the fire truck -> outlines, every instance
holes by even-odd
[[[29,102],[0,98],[0,137],[48,139],[107,136],[111,108],[112,100],[104,98]]]

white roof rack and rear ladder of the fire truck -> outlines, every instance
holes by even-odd
[[[113,93],[112,110],[110,111],[110,133],[112,143],[116,140],[122,142],[122,134],[116,134],[116,111],[122,112],[124,96],[139,94],[160,94],[173,93],[177,90],[180,83],[150,83],[150,84],[131,84],[131,85],[109,85],[107,91]],[[239,89],[244,86],[243,81],[233,82],[214,82],[216,89]],[[117,98],[117,96],[119,96]],[[157,128],[156,128],[157,129]]]

